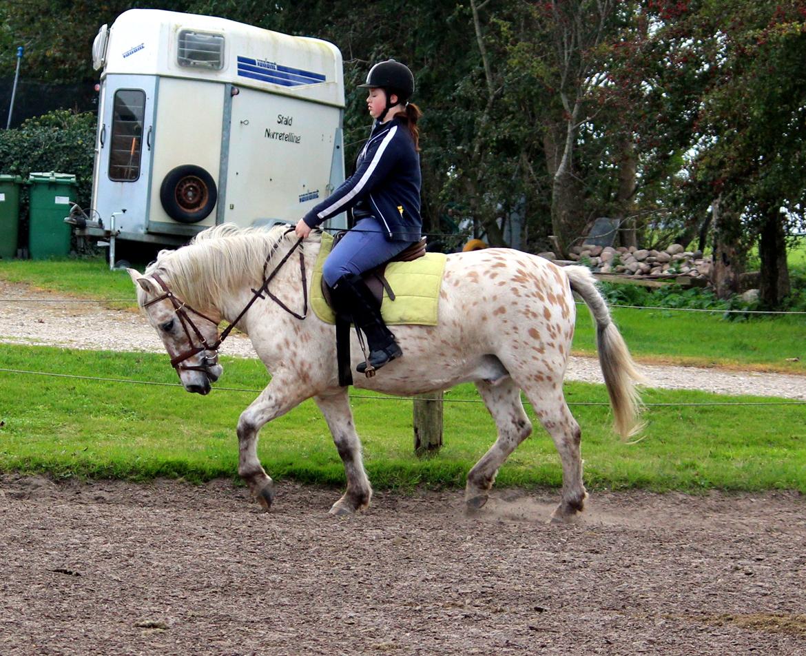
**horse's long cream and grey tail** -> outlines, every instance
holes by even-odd
[[[599,351],[599,364],[613,408],[613,428],[622,438],[627,438],[642,428],[638,421],[641,400],[635,384],[645,382],[644,377],[635,368],[590,270],[570,266],[563,267],[563,272],[571,281],[571,291],[582,297],[596,321],[596,350]]]

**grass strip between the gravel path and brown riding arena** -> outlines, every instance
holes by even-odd
[[[260,363],[225,359],[217,388],[198,397],[177,385],[164,355],[6,345],[0,354],[6,369],[164,384],[0,372],[0,471],[135,480],[235,477],[239,413],[256,396],[253,390],[268,382]],[[625,443],[610,431],[605,405],[583,405],[605,404],[602,386],[571,383],[566,389],[583,429],[585,480],[592,489],[806,492],[803,405],[690,406],[685,404],[754,400],[650,389],[644,401],[669,405],[650,405],[642,441]],[[471,385],[449,390],[446,399],[445,446],[419,459],[413,455],[411,401],[352,395],[376,488],[463,485],[467,470],[492,444],[494,426]],[[264,428],[260,457],[277,479],[343,484],[341,462],[312,401]],[[499,485],[524,487],[560,482],[559,457],[539,427],[498,478]]]

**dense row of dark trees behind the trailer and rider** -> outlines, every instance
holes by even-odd
[[[23,35],[30,77],[93,79],[89,46],[98,26],[139,4],[6,3],[2,56],[13,66],[8,57]],[[786,293],[781,244],[806,207],[802,0],[156,6],[336,44],[344,56],[348,168],[368,131],[355,85],[378,60],[408,64],[414,102],[425,110],[426,229],[445,230],[451,207],[503,244],[506,222],[518,214],[530,250],[544,250],[553,233],[565,251],[596,216],[618,218],[622,243],[644,246],[697,235],[703,245],[711,222],[719,259],[730,265],[722,289],[734,288],[744,253],[763,235],[765,302]],[[58,27],[53,15],[63,18]]]

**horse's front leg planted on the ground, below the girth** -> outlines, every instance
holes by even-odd
[[[344,463],[344,473],[347,475],[347,491],[330,508],[330,514],[347,515],[355,513],[356,510],[363,510],[368,507],[372,498],[372,487],[364,471],[361,442],[355,433],[347,388],[320,394],[314,397],[314,401],[325,416],[336,449],[339,450]]]

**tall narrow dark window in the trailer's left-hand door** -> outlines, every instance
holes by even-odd
[[[144,91],[120,89],[114,93],[109,155],[110,180],[132,182],[140,176],[145,106]]]

